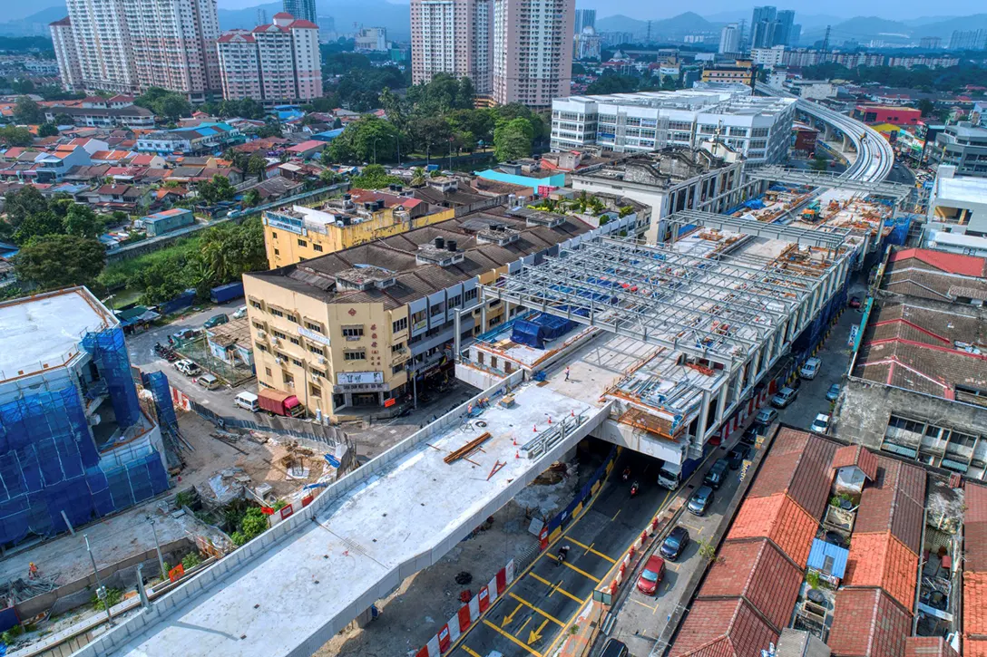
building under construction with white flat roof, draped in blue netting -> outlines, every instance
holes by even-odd
[[[84,287],[0,304],[0,547],[169,487],[119,322]]]

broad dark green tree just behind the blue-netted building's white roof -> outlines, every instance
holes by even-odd
[[[92,285],[103,270],[106,250],[97,240],[74,235],[46,235],[25,245],[14,257],[17,275],[42,290]]]

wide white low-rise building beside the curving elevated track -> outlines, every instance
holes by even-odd
[[[677,92],[572,96],[552,102],[552,150],[597,146],[646,153],[699,148],[718,137],[749,163],[788,150],[795,99],[755,97],[742,84],[700,83]]]

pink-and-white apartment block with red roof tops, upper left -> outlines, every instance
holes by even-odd
[[[248,32],[224,33],[216,43],[223,98],[273,105],[322,96],[319,29],[280,12]]]

